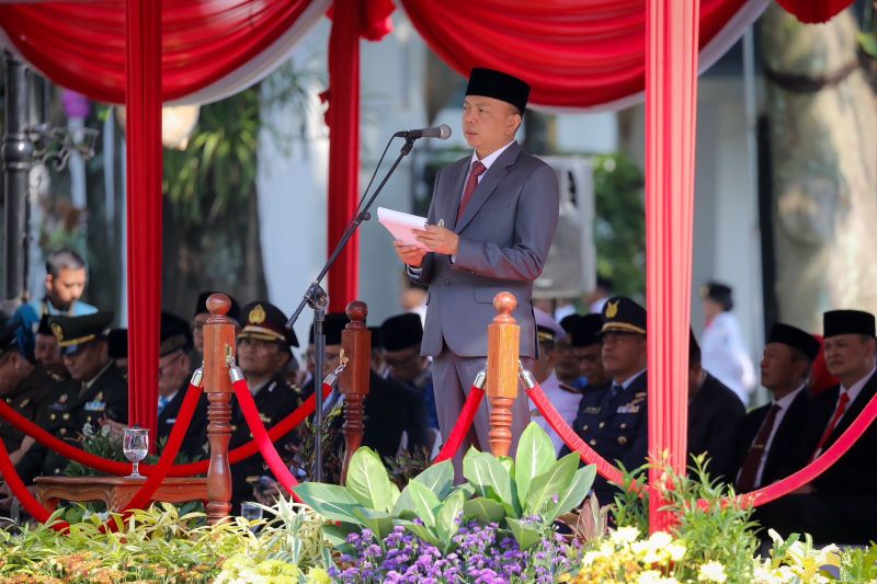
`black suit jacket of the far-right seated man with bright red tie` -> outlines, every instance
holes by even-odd
[[[828,426],[839,393],[840,387],[834,387],[810,402],[806,422],[807,435],[801,449],[808,458]],[[850,403],[846,413],[829,437],[823,453],[858,417],[875,393],[877,393],[877,374],[868,379],[855,401]],[[812,488],[844,522],[854,526],[859,533],[873,534],[877,525],[875,474],[877,474],[877,424],[872,424],[840,460],[812,482]]]

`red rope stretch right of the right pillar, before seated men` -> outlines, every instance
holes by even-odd
[[[838,442],[832,444],[819,458],[800,469],[799,471],[789,474],[782,481],[777,481],[767,486],[762,486],[751,493],[744,493],[737,496],[737,501],[743,505],[752,505],[758,507],[771,501],[775,501],[791,491],[812,482],[817,477],[825,472],[834,462],[836,462],[846,451],[856,443],[856,440],[868,430],[874,420],[877,419],[877,396],[874,396],[868,401],[865,409],[856,416],[850,427],[838,438]]]

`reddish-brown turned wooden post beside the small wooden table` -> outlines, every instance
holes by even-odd
[[[204,324],[204,391],[207,393],[207,439],[210,466],[207,470],[207,522],[216,524],[231,512],[231,379],[228,369],[236,355],[235,324],[226,317],[231,301],[224,294],[207,298],[210,317]]]

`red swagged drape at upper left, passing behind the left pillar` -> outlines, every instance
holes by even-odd
[[[156,2],[156,0],[152,0]],[[246,66],[314,0],[162,0],[163,101]],[[125,102],[126,0],[0,5],[14,47],[55,83],[93,100]]]

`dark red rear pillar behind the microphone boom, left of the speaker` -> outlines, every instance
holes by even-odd
[[[329,35],[329,208],[331,254],[356,213],[360,193],[360,33],[363,2],[335,0]],[[360,236],[354,234],[329,272],[329,310],[342,311],[360,287]]]

